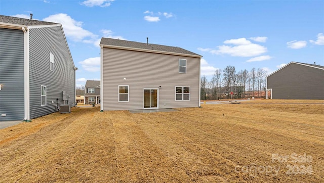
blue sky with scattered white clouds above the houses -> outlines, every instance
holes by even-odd
[[[12,1],[0,14],[61,23],[77,85],[100,78],[101,37],[178,46],[202,55],[201,75],[295,61],[324,65],[324,1]]]

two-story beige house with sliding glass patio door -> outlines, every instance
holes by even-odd
[[[200,55],[111,38],[100,46],[101,110],[200,106]]]

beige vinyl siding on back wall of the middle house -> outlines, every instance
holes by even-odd
[[[103,110],[143,109],[143,88],[159,86],[159,109],[199,106],[199,58],[104,48],[102,67]],[[118,85],[129,85],[129,102],[118,102]],[[175,101],[176,86],[190,86],[191,100]]]

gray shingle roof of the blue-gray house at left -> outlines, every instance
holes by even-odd
[[[25,18],[10,17],[10,16],[5,16],[5,15],[0,15],[0,22],[17,24],[17,25],[26,25],[26,26],[58,24],[58,23],[53,23],[53,22],[45,22],[45,21],[39,21],[39,20],[29,20],[29,19],[25,19]]]

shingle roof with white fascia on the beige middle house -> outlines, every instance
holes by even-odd
[[[141,51],[150,51],[150,52],[159,51],[159,52],[177,53],[177,54],[185,54],[185,55],[192,55],[195,57],[201,57],[198,54],[182,49],[180,47],[170,47],[167,45],[135,42],[135,41],[112,39],[112,38],[105,38],[105,37],[101,38],[100,45],[106,45],[108,47],[112,46],[113,48],[119,48],[119,49],[133,48]]]

